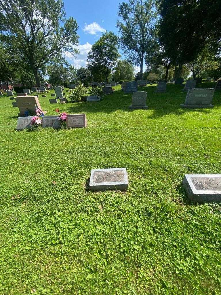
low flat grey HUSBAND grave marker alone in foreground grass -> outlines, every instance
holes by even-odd
[[[126,168],[92,169],[90,173],[89,189],[103,191],[106,189],[119,189],[125,191],[128,188],[128,176]]]

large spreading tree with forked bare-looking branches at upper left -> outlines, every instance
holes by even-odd
[[[77,22],[72,17],[66,19],[62,0],[2,0],[0,8],[0,28],[16,37],[37,86],[39,71],[54,56],[64,51],[78,53],[72,46],[78,43]]]

